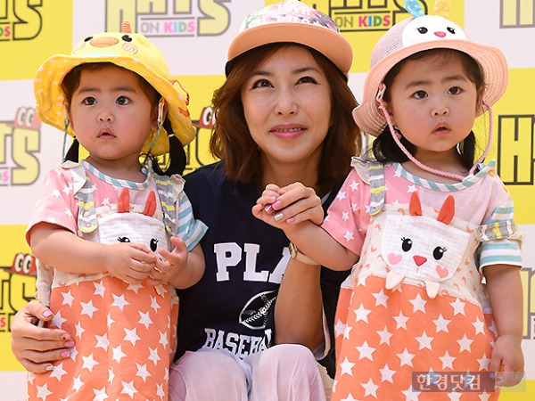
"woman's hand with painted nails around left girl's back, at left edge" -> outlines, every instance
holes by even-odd
[[[74,340],[67,331],[38,327],[39,321],[50,322],[53,313],[43,304],[31,301],[12,319],[12,352],[26,370],[50,371],[54,361],[70,356]]]

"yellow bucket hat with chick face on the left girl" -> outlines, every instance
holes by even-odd
[[[123,32],[103,32],[86,37],[70,54],[55,54],[37,70],[34,80],[37,116],[41,121],[60,130],[65,128],[65,94],[62,81],[70,70],[89,62],[111,62],[131,70],[152,85],[168,103],[167,118],[174,134],[185,145],[195,136],[187,105],[189,95],[180,83],[170,78],[169,68],[161,51],[143,35],[131,33],[128,22],[123,23]],[[74,136],[70,127],[67,133]],[[156,133],[149,135],[143,151],[159,156],[169,152],[169,138],[161,127],[156,143]]]

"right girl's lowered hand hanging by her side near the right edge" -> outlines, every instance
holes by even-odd
[[[520,341],[514,336],[499,336],[492,349],[490,372],[496,372],[496,386],[511,387],[523,379],[524,360]]]

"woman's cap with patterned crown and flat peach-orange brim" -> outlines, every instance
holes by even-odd
[[[227,59],[232,61],[255,47],[279,42],[309,46],[333,61],[344,75],[350,71],[353,61],[350,42],[329,16],[297,0],[251,12],[230,44]]]

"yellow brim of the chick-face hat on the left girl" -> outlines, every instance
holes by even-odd
[[[144,63],[136,61],[128,55],[113,54],[111,57],[109,53],[103,53],[100,56],[95,54],[84,56],[56,54],[48,58],[37,70],[34,79],[36,111],[39,119],[46,124],[64,130],[66,116],[63,106],[65,102],[65,95],[62,91],[63,78],[76,66],[93,62],[111,62],[143,77],[168,103],[167,117],[180,142],[185,145],[193,140],[196,131],[187,110],[187,94],[182,87],[177,82],[169,81]],[[68,128],[67,133],[74,136],[71,127]],[[147,138],[143,152],[149,151],[151,148],[154,135],[149,135]],[[163,127],[161,127],[161,134],[157,142],[153,144],[151,152],[156,156],[169,152],[169,137]]]

